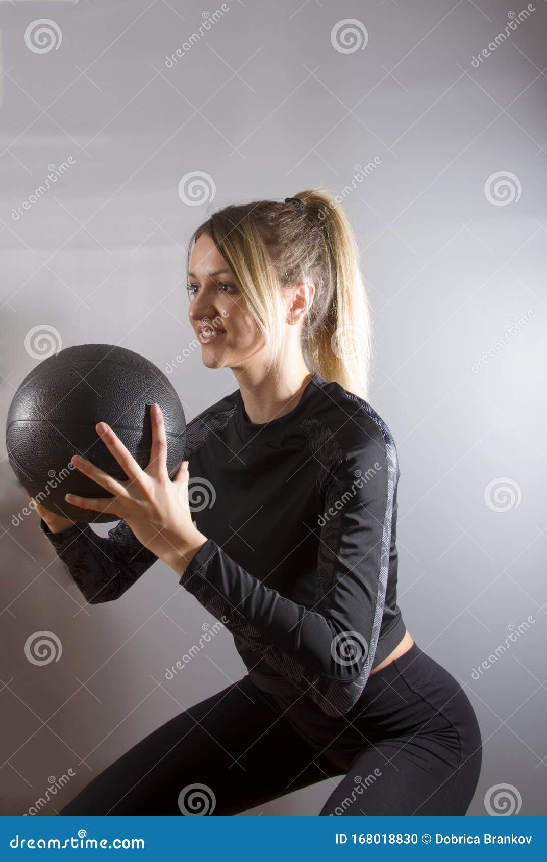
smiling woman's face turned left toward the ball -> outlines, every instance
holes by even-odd
[[[242,301],[239,285],[208,234],[192,250],[188,318],[207,368],[246,368],[264,348],[263,336]]]

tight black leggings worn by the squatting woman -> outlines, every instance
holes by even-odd
[[[347,715],[314,706],[245,676],[149,734],[60,814],[236,815],[341,774],[320,815],[466,813],[481,732],[460,684],[416,643]]]

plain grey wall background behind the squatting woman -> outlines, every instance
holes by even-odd
[[[53,327],[63,347],[99,341],[172,363],[193,339],[185,245],[211,209],[315,185],[342,195],[374,311],[370,401],[400,459],[399,604],[479,717],[483,770],[469,814],[486,813],[496,784],[510,785],[515,813],[544,814],[547,6],[536,0],[475,68],[525,3],[227,5],[169,68],[203,4],[2,4],[3,415],[41,361],[25,347],[34,328]],[[47,53],[25,44],[40,18],[62,32]],[[343,53],[330,34],[349,18],[368,44]],[[15,220],[48,166],[69,156],[72,167]],[[357,182],[355,166],[374,157]],[[184,203],[189,172],[207,173],[215,197]],[[520,195],[495,203],[485,184],[498,172]],[[236,389],[199,353],[171,375],[188,420]],[[121,600],[86,606],[36,514],[13,526],[28,500],[5,450],[1,470],[2,814],[27,811],[70,768],[42,810],[54,815],[245,668],[224,630],[167,681],[166,667],[214,619],[162,562]],[[25,643],[42,630],[63,652],[34,665]],[[249,813],[316,815],[337,780]]]

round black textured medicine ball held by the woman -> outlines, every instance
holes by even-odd
[[[118,521],[112,513],[66,502],[66,494],[112,497],[70,460],[79,454],[113,478],[128,478],[97,434],[97,422],[107,422],[138,465],[147,467],[154,401],[165,421],[167,472],[173,479],[184,459],[186,424],[165,374],[123,347],[66,347],[36,365],[16,391],[6,423],[9,464],[28,494],[54,514],[74,522]]]

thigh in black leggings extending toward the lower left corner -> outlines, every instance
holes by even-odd
[[[61,815],[235,815],[339,774],[248,676],[149,734]]]

